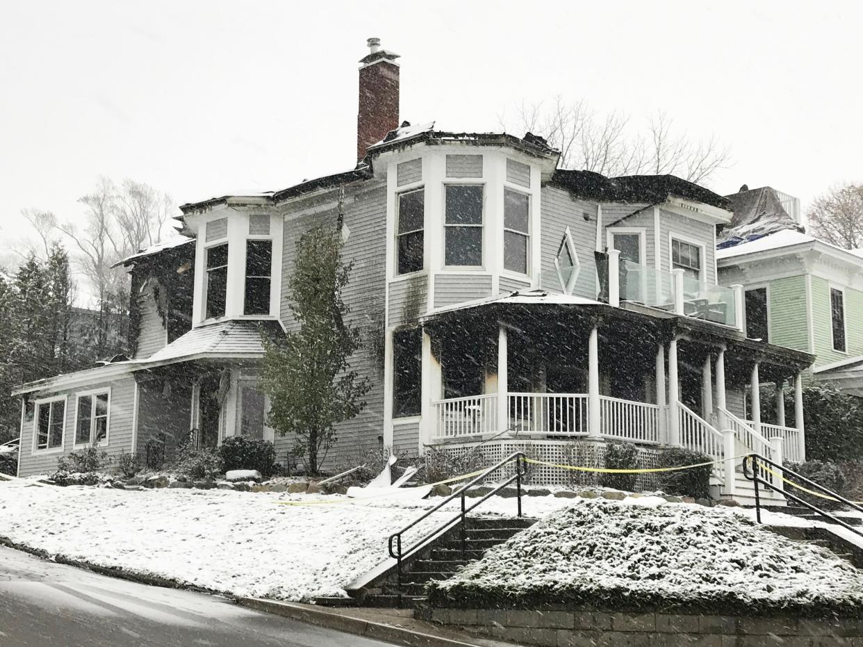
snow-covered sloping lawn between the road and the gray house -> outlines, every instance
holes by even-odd
[[[15,543],[224,593],[286,600],[343,595],[350,581],[387,559],[391,533],[440,500],[22,486],[0,483],[0,536]],[[327,502],[277,503],[290,499]],[[523,501],[532,516],[570,503],[551,496]],[[515,506],[515,499],[494,498],[482,510],[514,516]],[[418,532],[455,512],[436,513]]]

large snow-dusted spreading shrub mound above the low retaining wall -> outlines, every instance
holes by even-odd
[[[820,546],[721,507],[597,499],[553,513],[428,590],[432,606],[468,608],[863,612],[863,572]]]

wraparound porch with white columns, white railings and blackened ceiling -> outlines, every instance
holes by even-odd
[[[525,300],[426,323],[428,444],[623,441],[717,461],[753,451],[804,459],[808,355],[685,316]],[[762,376],[782,394],[770,421],[759,419]],[[791,425],[786,384],[796,398]],[[717,470],[726,493],[739,481],[736,467]]]

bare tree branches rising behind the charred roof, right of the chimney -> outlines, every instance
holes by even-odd
[[[560,150],[563,168],[612,177],[667,173],[703,184],[731,160],[728,148],[715,136],[691,141],[685,133],[675,131],[665,112],[652,116],[646,133],[639,133],[623,113],[602,115],[583,99],[568,102],[558,96],[548,104],[522,103],[513,120],[505,116],[499,120],[504,129],[526,129],[545,136]]]

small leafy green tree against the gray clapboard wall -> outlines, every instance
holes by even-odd
[[[319,226],[300,236],[288,283],[296,330],[278,341],[262,336],[268,424],[293,434],[312,474],[336,440],[335,425],[362,411],[370,388],[369,379],[350,368],[360,331],[345,320],[350,309],[342,289],[353,263],[343,262],[342,246],[337,228]]]

